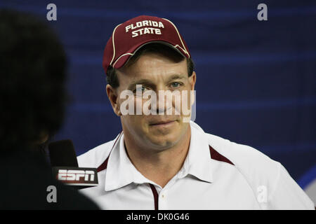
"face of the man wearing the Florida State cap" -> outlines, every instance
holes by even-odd
[[[149,99],[142,99],[146,91],[152,90],[157,94],[156,108],[157,115],[124,115],[121,116],[121,123],[124,134],[133,137],[138,146],[147,146],[157,151],[170,148],[178,143],[189,132],[189,123],[183,122],[182,110],[180,114],[176,114],[178,109],[176,106],[176,97],[166,104],[167,97],[159,97],[159,90],[169,90],[174,92],[178,90],[180,93],[186,90],[190,109],[190,90],[195,87],[195,72],[192,76],[187,75],[187,61],[183,59],[181,62],[175,62],[169,57],[158,53],[145,53],[138,57],[136,62],[130,66],[123,67],[117,71],[119,79],[119,87],[114,90],[117,94],[117,108],[126,100],[121,99],[120,94],[124,90],[131,90],[135,96],[133,99],[134,108],[137,106],[142,108]],[[142,87],[136,90],[136,85]],[[136,93],[138,91],[138,93]],[[141,92],[141,94],[139,94]],[[185,93],[185,91],[183,92]],[[162,99],[164,98],[164,99]],[[184,98],[181,98],[181,102]],[[164,100],[164,104],[162,101]],[[112,104],[113,105],[113,104]],[[149,106],[149,109],[154,108]],[[171,110],[171,115],[166,115]],[[142,111],[143,112],[143,111]],[[170,112],[170,111],[169,111]],[[179,111],[178,111],[179,112]],[[159,115],[164,113],[164,115]],[[186,116],[187,117],[187,116]]]

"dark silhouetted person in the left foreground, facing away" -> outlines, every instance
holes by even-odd
[[[98,209],[55,180],[39,147],[62,125],[66,69],[48,25],[0,10],[0,209]]]

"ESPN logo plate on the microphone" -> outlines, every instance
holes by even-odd
[[[81,167],[53,167],[56,179],[66,185],[93,187],[98,186],[98,172],[96,168]]]

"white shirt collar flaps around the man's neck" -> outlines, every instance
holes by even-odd
[[[194,125],[192,125],[194,124]],[[190,123],[191,139],[190,147],[183,163],[183,167],[178,172],[178,178],[184,178],[191,174],[197,179],[206,182],[213,182],[211,173],[211,154],[209,143],[202,129],[198,129],[195,123]],[[124,146],[124,134],[121,134],[117,144],[113,147],[107,163],[105,176],[105,191],[116,190],[130,183],[152,183],[149,179],[140,174],[136,167],[129,160]]]

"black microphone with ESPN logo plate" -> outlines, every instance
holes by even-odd
[[[97,169],[78,167],[77,155],[70,139],[51,142],[48,151],[53,175],[58,181],[76,189],[98,186]]]

